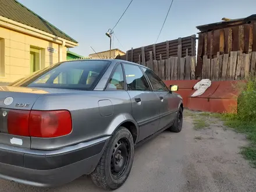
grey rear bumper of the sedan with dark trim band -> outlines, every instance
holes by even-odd
[[[0,178],[38,187],[71,182],[95,169],[108,140],[105,137],[54,151],[6,150],[0,145]]]

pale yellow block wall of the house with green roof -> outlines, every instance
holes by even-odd
[[[30,74],[30,46],[41,50],[40,69],[60,61],[59,44],[0,26],[1,82],[12,82]],[[58,52],[48,52],[47,47],[54,48]],[[62,48],[62,61],[66,61],[66,47]]]

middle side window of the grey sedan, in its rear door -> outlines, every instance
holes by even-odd
[[[140,67],[124,64],[127,88],[129,91],[150,91],[150,85]]]

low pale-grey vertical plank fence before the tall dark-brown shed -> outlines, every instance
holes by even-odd
[[[202,79],[218,80],[243,80],[250,74],[255,75],[256,52],[245,54],[242,51],[231,51],[230,54],[202,59]]]

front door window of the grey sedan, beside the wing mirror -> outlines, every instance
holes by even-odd
[[[143,68],[143,71],[145,72],[146,76],[150,80],[150,83],[152,84],[154,91],[169,91],[166,87],[165,83],[160,79],[160,77],[157,76],[152,70]]]

